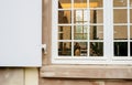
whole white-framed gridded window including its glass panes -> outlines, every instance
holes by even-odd
[[[132,0],[54,0],[52,13],[53,63],[132,63]]]

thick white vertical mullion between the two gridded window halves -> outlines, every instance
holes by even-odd
[[[103,26],[105,26],[105,56],[111,61],[113,56],[113,17],[112,0],[103,0]]]

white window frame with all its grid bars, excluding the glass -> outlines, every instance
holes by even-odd
[[[87,0],[89,1],[89,0]],[[74,0],[72,0],[74,2]],[[130,50],[129,57],[128,56],[114,56],[114,49],[113,43],[114,42],[129,42],[130,46],[130,39],[129,40],[114,40],[113,35],[113,26],[114,25],[128,25],[130,31],[130,17],[128,17],[129,23],[113,23],[113,10],[114,9],[130,9],[130,7],[113,7],[113,0],[103,0],[103,7],[102,8],[81,8],[81,10],[87,10],[90,19],[90,10],[102,10],[103,11],[103,23],[90,23],[90,20],[88,20],[87,24],[77,24],[74,23],[74,10],[80,10],[79,8],[74,8],[74,4],[72,4],[72,9],[57,9],[58,2],[57,0],[53,0],[53,14],[52,14],[52,63],[53,64],[132,64],[132,57],[130,57]],[[129,3],[129,2],[128,2]],[[72,10],[72,23],[69,24],[59,24],[58,23],[58,10]],[[130,15],[130,11],[128,11],[128,15]],[[72,26],[72,40],[57,40],[57,26],[58,25],[70,25]],[[74,25],[87,25],[88,32],[87,36],[88,40],[74,40]],[[89,31],[91,25],[102,25],[103,26],[103,40],[89,40]],[[128,38],[130,38],[130,33],[128,33]],[[72,42],[72,52],[74,52],[74,42],[87,42],[87,47],[89,49],[90,42],[103,42],[103,56],[89,56],[89,50],[87,51],[88,56],[74,56],[74,53],[72,53],[72,56],[58,56],[58,42]]]

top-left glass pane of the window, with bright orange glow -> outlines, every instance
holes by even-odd
[[[70,9],[72,1],[70,0],[58,0],[58,9]]]

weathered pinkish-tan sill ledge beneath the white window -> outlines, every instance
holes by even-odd
[[[132,79],[132,66],[46,65],[41,68],[41,77]]]

